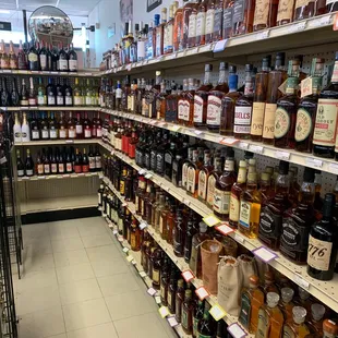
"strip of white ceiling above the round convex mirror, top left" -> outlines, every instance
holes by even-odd
[[[0,17],[11,17],[13,11],[34,12],[41,5],[56,5],[68,15],[87,16],[100,0],[0,0]]]

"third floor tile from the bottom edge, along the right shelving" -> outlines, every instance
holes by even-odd
[[[101,289],[101,292],[104,293],[104,297],[125,293],[129,291],[135,291],[140,289],[136,280],[130,273],[108,277],[100,277],[97,278],[97,280]]]

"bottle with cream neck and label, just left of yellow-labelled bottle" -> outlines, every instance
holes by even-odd
[[[240,220],[240,201],[241,194],[246,185],[246,161],[241,160],[239,165],[239,174],[237,182],[231,188],[229,225],[237,229]]]

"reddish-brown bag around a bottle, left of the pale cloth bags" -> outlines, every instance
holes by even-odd
[[[217,293],[217,269],[221,254],[222,244],[216,240],[206,240],[201,245],[202,280],[212,294]]]

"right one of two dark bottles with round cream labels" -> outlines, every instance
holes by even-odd
[[[295,120],[295,150],[311,153],[313,147],[313,132],[319,90],[322,88],[322,75],[324,70],[324,59],[312,60],[311,77],[312,94],[301,99],[298,105]]]

